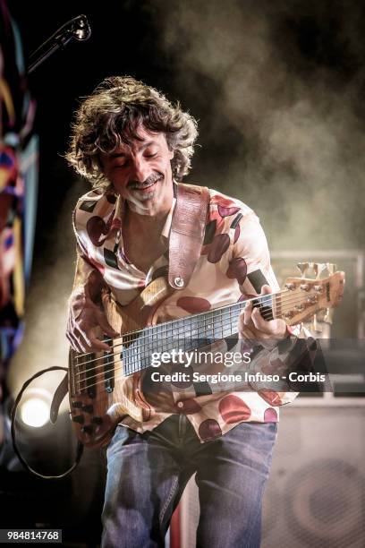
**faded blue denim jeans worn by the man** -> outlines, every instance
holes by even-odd
[[[200,443],[185,415],[152,432],[117,426],[107,455],[103,548],[164,546],[166,530],[194,472],[199,548],[259,548],[261,501],[276,424],[242,423]]]

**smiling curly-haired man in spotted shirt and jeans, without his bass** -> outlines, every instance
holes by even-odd
[[[103,287],[126,305],[168,269],[174,185],[189,171],[196,137],[189,114],[130,77],[106,79],[81,103],[67,158],[94,190],[73,218],[79,257],[67,336],[76,351],[109,349],[95,334],[98,326],[118,335],[99,305]],[[241,201],[211,190],[199,261],[187,286],[160,305],[159,319],[276,289],[259,219]],[[238,329],[242,338],[263,341],[289,335],[283,320],[265,321],[251,305]],[[276,406],[295,394],[192,386],[171,392],[171,408],[155,407],[140,423],[127,416],[116,428],[107,449],[103,546],[163,545],[194,472],[197,545],[259,546]]]

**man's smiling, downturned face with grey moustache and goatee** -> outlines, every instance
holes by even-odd
[[[151,133],[143,126],[137,129],[140,140],[123,144],[109,154],[101,155],[105,176],[115,191],[141,215],[156,215],[169,210],[173,199],[171,160],[164,133]]]

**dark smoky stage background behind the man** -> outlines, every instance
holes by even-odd
[[[304,261],[307,252],[320,251],[332,261],[331,250],[364,249],[361,3],[16,0],[9,7],[26,57],[76,15],[86,14],[92,27],[89,41],[56,52],[29,78],[38,102],[38,217],[27,327],[9,373],[11,391],[32,372],[64,365],[67,358],[64,330],[75,257],[71,215],[89,184],[66,166],[63,154],[79,98],[107,76],[131,74],[179,100],[198,119],[199,146],[188,180],[247,202],[258,212],[271,250],[303,251]],[[55,381],[45,383],[55,389]],[[35,461],[63,468],[64,459],[72,460],[67,421],[53,435],[51,448],[43,457],[38,452]],[[68,494],[58,496],[64,506],[70,496],[69,513],[79,512],[82,519],[94,512],[98,530],[98,456],[89,454],[83,462],[80,474],[64,486]],[[31,493],[37,489],[30,485]],[[50,487],[42,495],[46,504],[38,514],[55,492]],[[13,501],[19,503],[16,494]],[[59,514],[64,523],[66,514]],[[74,527],[69,515],[67,520]],[[17,523],[24,526],[24,519]],[[79,527],[80,538],[85,530]]]

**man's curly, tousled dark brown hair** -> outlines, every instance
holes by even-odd
[[[109,189],[100,152],[109,153],[139,139],[140,124],[151,132],[165,133],[168,148],[174,150],[173,175],[181,181],[191,167],[197,123],[179,103],[173,105],[162,93],[131,76],[106,78],[81,102],[65,158],[94,188]]]

